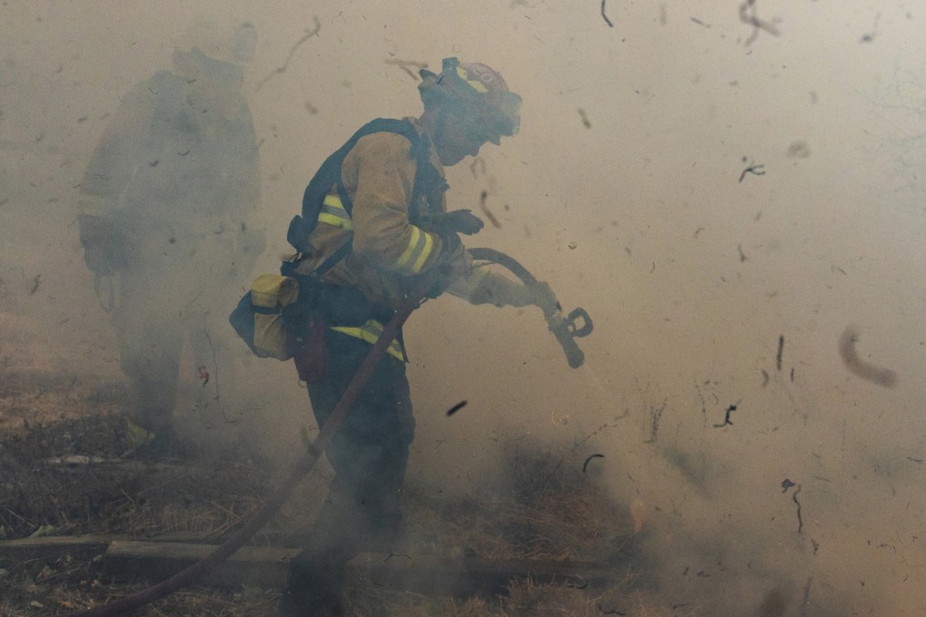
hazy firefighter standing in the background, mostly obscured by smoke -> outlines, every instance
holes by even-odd
[[[251,23],[198,19],[184,39],[172,72],[158,71],[122,99],[78,206],[84,261],[114,311],[131,419],[156,452],[175,443],[184,336],[197,408],[222,404],[217,378],[231,389],[220,308],[264,248],[255,130],[242,95],[257,32]]]

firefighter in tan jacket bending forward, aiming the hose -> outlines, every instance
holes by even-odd
[[[420,277],[440,273],[432,295],[447,290],[472,303],[536,300],[520,283],[474,267],[458,234],[478,232],[482,220],[448,213],[444,199],[444,166],[517,132],[519,95],[494,69],[457,58],[439,74],[420,73],[424,113],[358,130],[309,182],[303,216],[290,226],[298,253],[283,273],[311,298],[294,360],[319,426]],[[336,476],[307,548],[291,561],[282,615],[342,614],[346,563],[362,549],[388,547],[397,533],[415,426],[405,363],[400,336],[332,438]]]

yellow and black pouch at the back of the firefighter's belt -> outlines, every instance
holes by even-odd
[[[295,340],[284,313],[296,306],[298,298],[299,283],[295,278],[261,275],[229,315],[229,322],[257,356],[289,360]]]

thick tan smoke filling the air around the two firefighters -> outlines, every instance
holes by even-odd
[[[5,308],[68,329],[19,344],[118,370],[75,187],[191,19],[257,27],[262,272],[324,156],[372,117],[419,114],[394,61],[482,61],[523,96],[522,129],[449,170],[451,206],[489,191],[501,227],[469,244],[519,258],[595,330],[571,371],[535,309],[429,302],[407,327],[409,478],[467,490],[491,438],[530,433],[578,465],[606,455],[673,601],[749,614],[781,586],[792,615],[926,614],[926,2],[608,1],[613,27],[598,2],[211,4],[0,4],[0,277],[21,296]],[[847,327],[894,388],[847,370]],[[291,436],[292,367],[250,368],[282,396],[251,421]]]

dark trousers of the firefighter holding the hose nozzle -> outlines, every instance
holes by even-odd
[[[370,350],[369,343],[332,330],[324,339],[326,370],[308,383],[319,426]],[[284,614],[313,614],[306,610],[334,601],[347,562],[363,550],[386,548],[394,538],[414,432],[405,364],[384,355],[328,447],[335,477],[307,547],[290,563]]]

